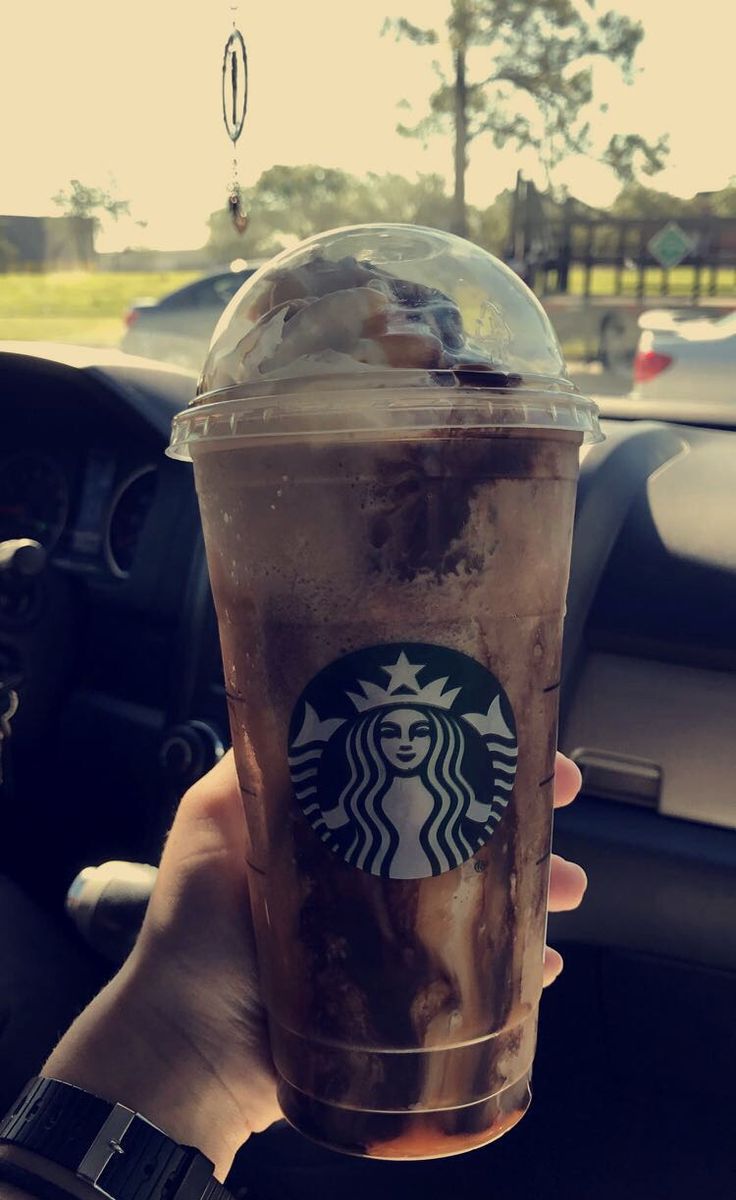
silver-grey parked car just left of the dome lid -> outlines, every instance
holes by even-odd
[[[139,300],[125,314],[120,349],[198,371],[220,313],[255,270],[217,271],[160,300]]]

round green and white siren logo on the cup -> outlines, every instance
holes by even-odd
[[[337,659],[305,688],[289,726],[292,784],[312,829],[383,878],[467,862],[503,818],[517,754],[495,676],[421,642]]]

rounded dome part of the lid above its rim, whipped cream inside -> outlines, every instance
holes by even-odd
[[[564,377],[549,317],[497,258],[437,229],[367,224],[310,238],[251,276],[198,390],[412,368]]]

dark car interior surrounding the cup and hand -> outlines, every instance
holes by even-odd
[[[164,456],[195,383],[119,352],[0,353],[0,541],[46,550],[0,564],[0,680],[19,696],[0,790],[2,1108],[114,970],[65,916],[71,882],[155,864],[228,742],[193,479]],[[584,788],[555,826],[590,886],[550,919],[566,971],[529,1114],[415,1164],[277,1124],[244,1147],[235,1195],[734,1195],[736,410],[603,415],[581,458],[561,695]]]

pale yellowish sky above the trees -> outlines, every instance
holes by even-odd
[[[274,163],[316,162],[354,174],[451,173],[449,138],[400,137],[421,115],[437,50],[381,37],[387,16],[441,25],[448,0],[0,0],[0,214],[54,215],[52,197],[78,178],[131,200],[142,229],[121,220],[98,250],[189,248],[222,208],[232,146],[222,125],[221,64],[233,8],[250,61],[250,106],[239,143],[244,185]],[[680,196],[736,175],[731,131],[736,8],[726,0],[598,0],[645,28],[635,83],[604,64],[597,136],[668,132],[671,155],[654,186]],[[413,108],[401,110],[401,100]],[[472,146],[468,199],[490,204],[533,156]],[[591,160],[556,175],[590,204],[617,185]]]

